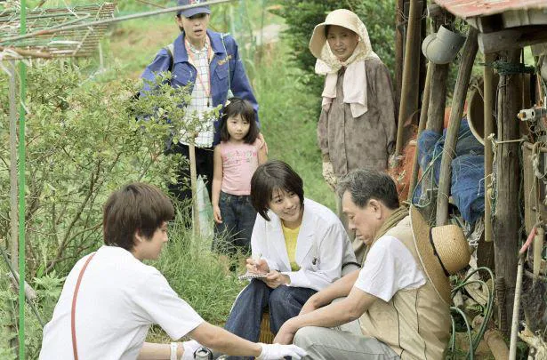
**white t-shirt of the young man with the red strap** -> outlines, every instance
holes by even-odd
[[[88,256],[68,274],[52,320],[44,327],[40,359],[74,358],[70,311],[77,277]],[[157,268],[123,248],[102,246],[89,262],[77,295],[78,357],[135,359],[151,324],[159,324],[178,340],[203,322]]]

